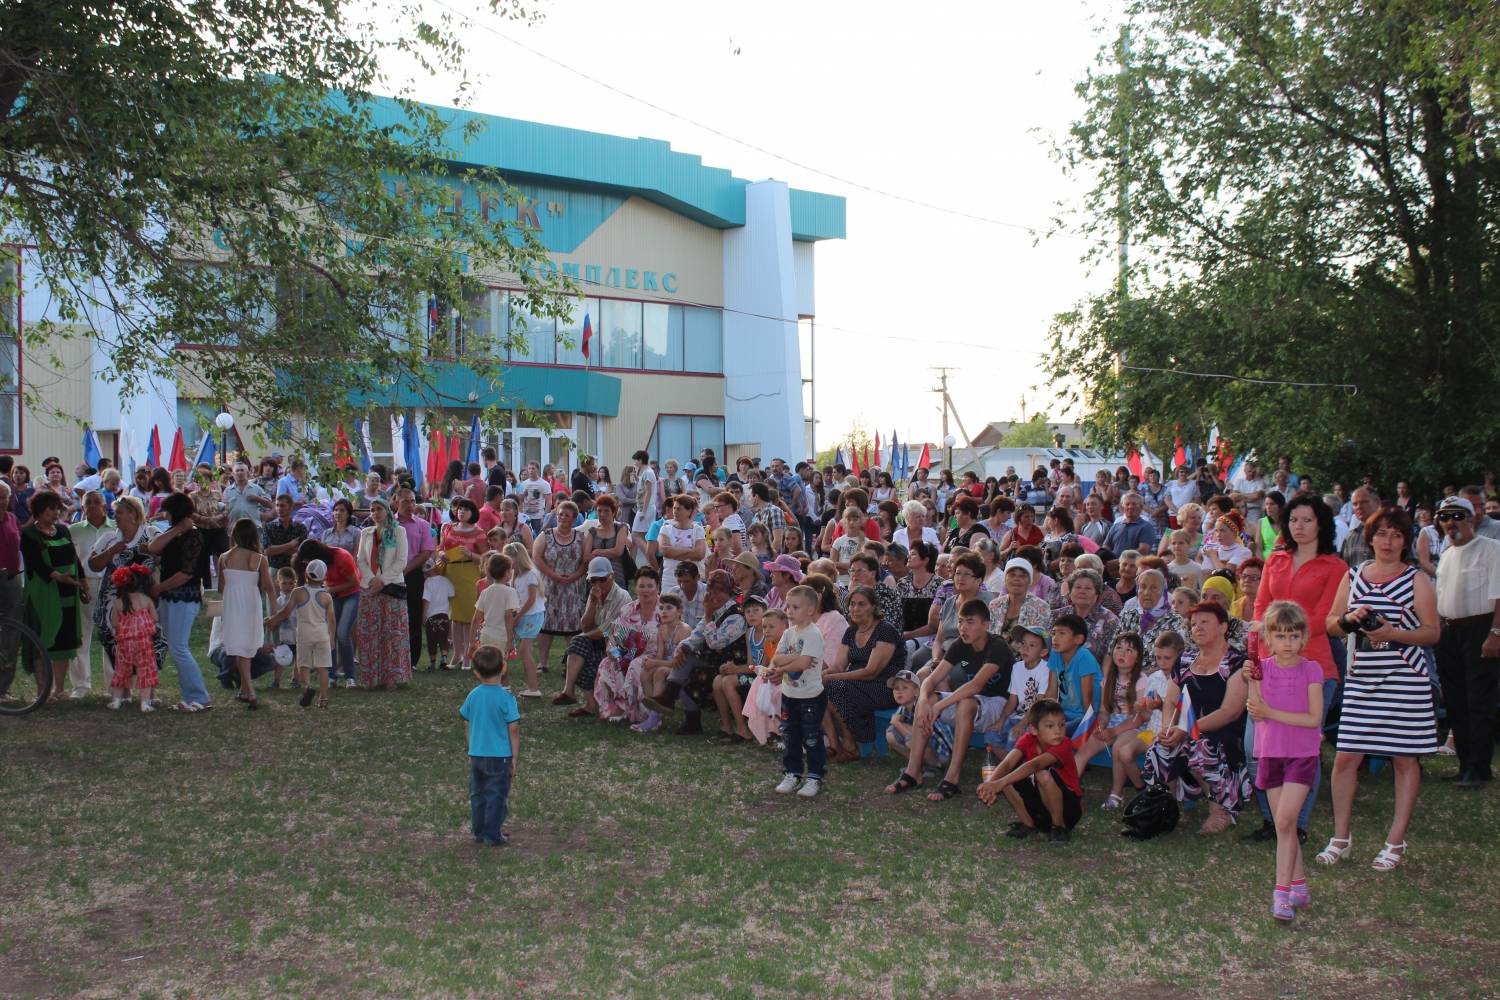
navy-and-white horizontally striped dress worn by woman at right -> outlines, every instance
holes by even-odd
[[[1371,583],[1364,567],[1348,571],[1348,606],[1362,604],[1396,628],[1418,628],[1416,567],[1386,583]],[[1384,649],[1360,640],[1344,678],[1338,750],[1353,754],[1416,757],[1437,751],[1432,682],[1420,646]]]

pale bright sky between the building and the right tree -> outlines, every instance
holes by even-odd
[[[819,448],[855,423],[939,441],[932,366],[952,369],[970,435],[1023,408],[1074,415],[1038,352],[1052,316],[1113,274],[1084,264],[1088,243],[1026,228],[1046,231],[1088,189],[1064,174],[1053,144],[1082,111],[1076,82],[1118,30],[1114,4],[954,3],[928,7],[936,18],[886,3],[532,0],[544,16],[522,25],[466,3],[424,7],[470,16],[456,24],[472,109],[666,139],[740,177],[846,198],[848,238],[816,250]],[[420,99],[453,102],[452,79],[390,72]],[[804,337],[804,376],[808,349]],[[951,432],[962,444],[957,424]]]

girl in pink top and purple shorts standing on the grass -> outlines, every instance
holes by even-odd
[[[1256,720],[1256,787],[1270,801],[1276,823],[1276,888],[1270,915],[1293,921],[1308,906],[1298,813],[1317,780],[1323,741],[1323,669],[1302,655],[1308,618],[1299,604],[1266,609],[1262,639],[1270,655],[1251,667],[1245,711]]]

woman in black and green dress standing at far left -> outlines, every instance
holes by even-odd
[[[52,696],[57,702],[68,685],[68,663],[82,645],[82,606],[88,603],[82,567],[63,517],[63,498],[38,492],[28,504],[32,520],[21,529],[26,559],[26,619],[52,660]]]

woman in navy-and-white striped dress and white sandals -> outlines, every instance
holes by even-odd
[[[1317,859],[1332,865],[1348,853],[1359,765],[1365,754],[1380,754],[1395,760],[1396,808],[1386,846],[1371,868],[1390,871],[1406,856],[1406,831],[1422,783],[1419,759],[1437,753],[1432,682],[1422,654],[1422,646],[1438,637],[1437,592],[1406,561],[1412,549],[1412,519],[1406,513],[1392,507],[1371,514],[1365,538],[1376,558],[1348,571],[1328,619],[1332,636],[1359,634],[1344,679],[1334,759],[1334,840]],[[1360,628],[1372,619],[1384,624]]]

